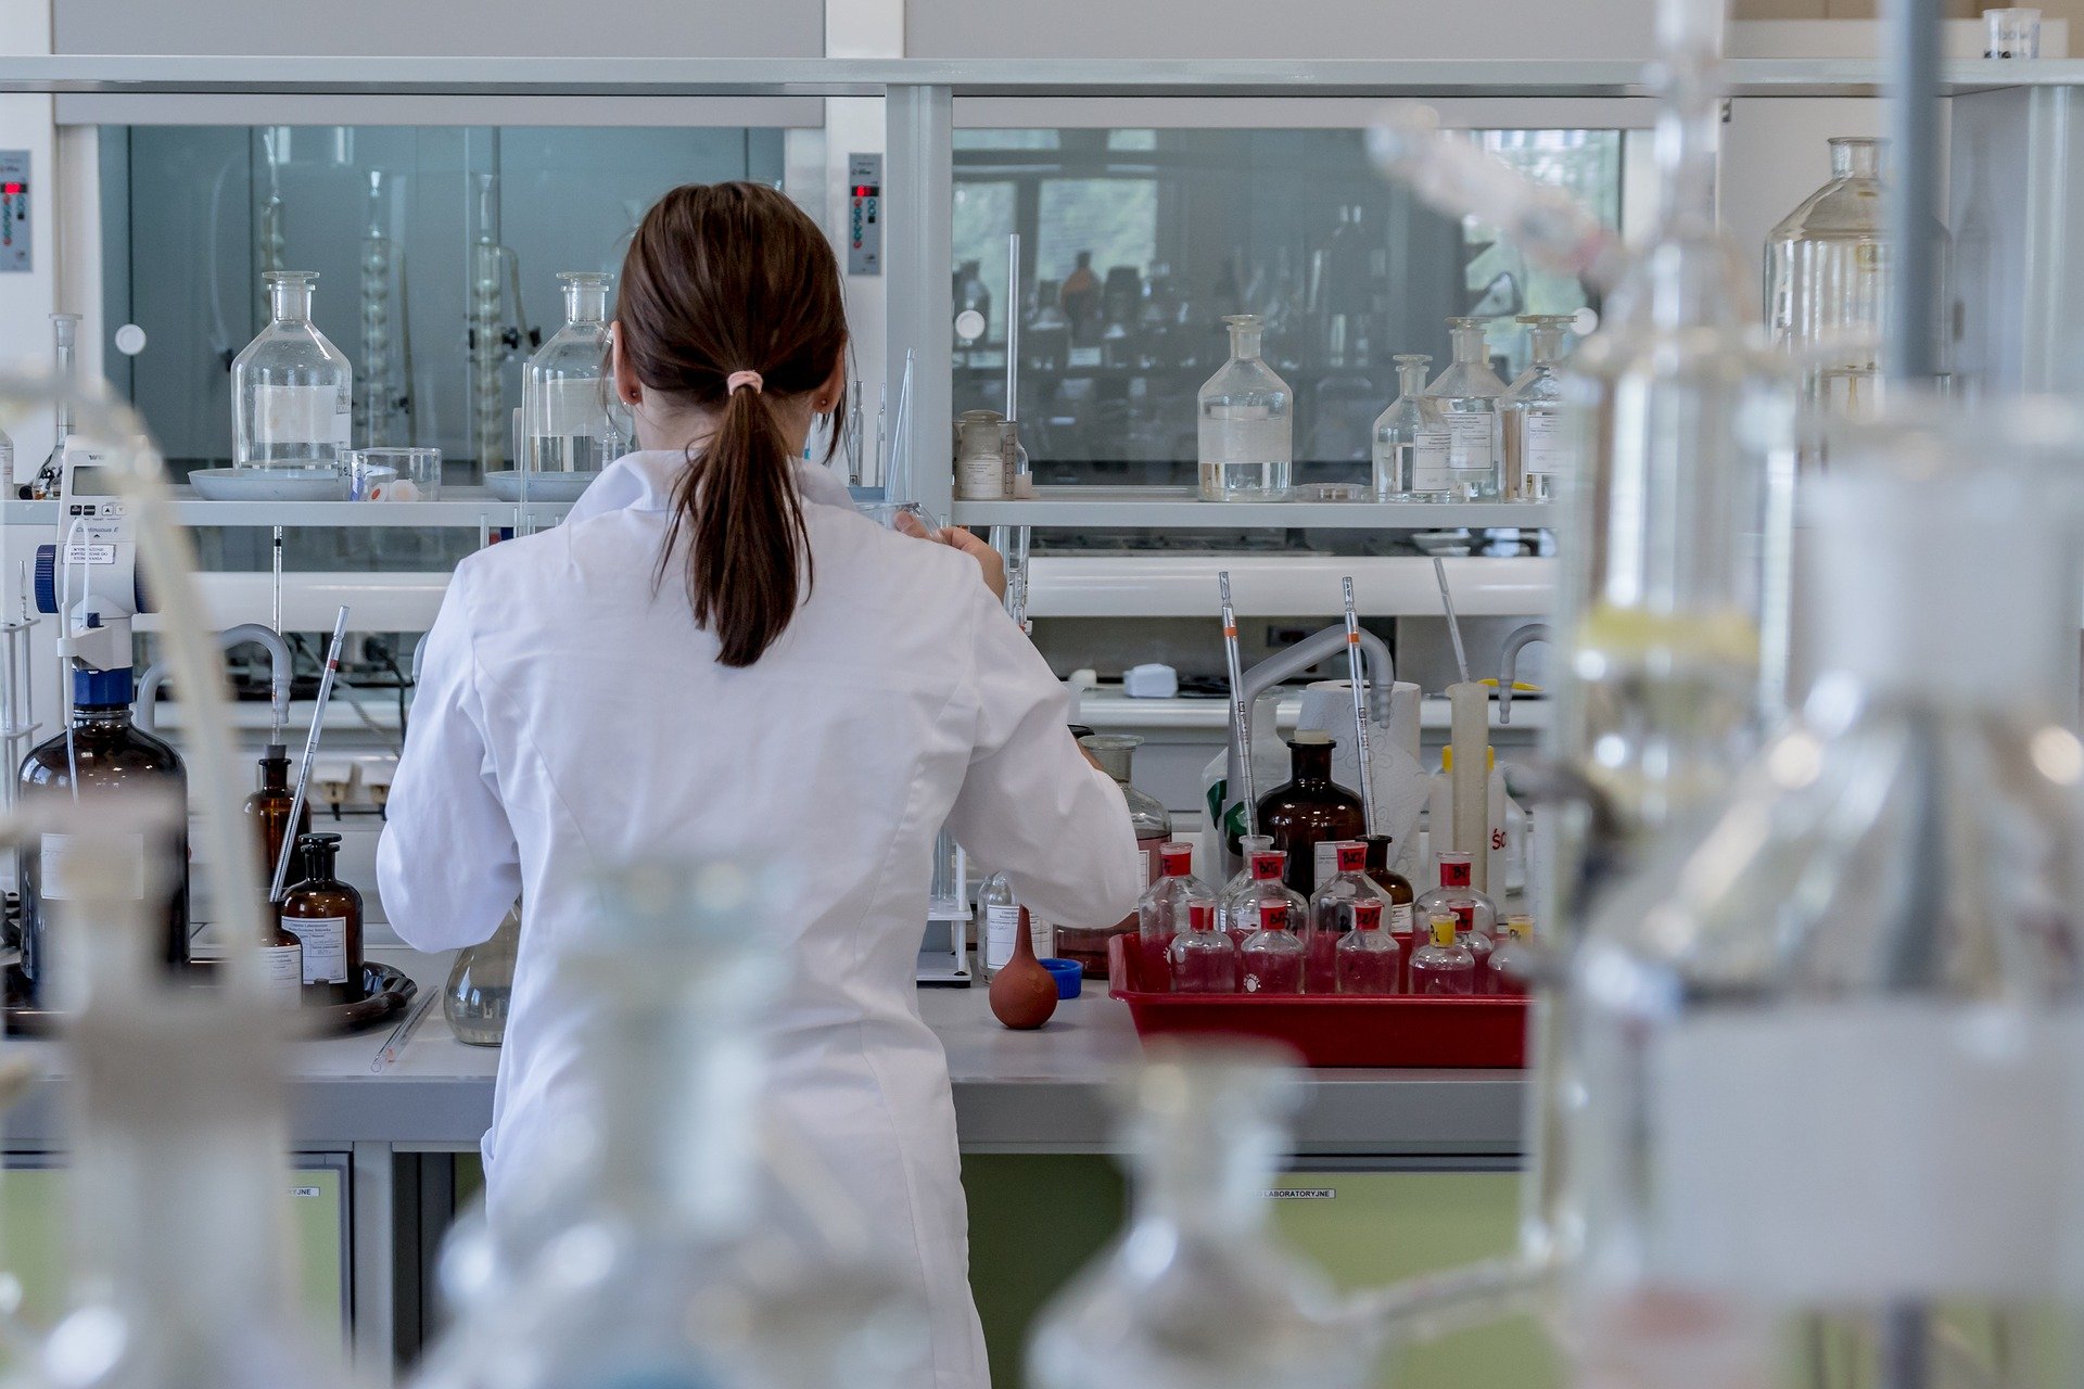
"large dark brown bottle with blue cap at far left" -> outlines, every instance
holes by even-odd
[[[188,804],[188,771],[181,754],[131,725],[131,673],[121,671],[73,671],[73,725],[71,737],[60,733],[35,748],[21,762],[21,798],[33,802],[44,795],[71,795],[73,768],[79,768],[81,791],[125,791],[135,787],[165,787],[175,795],[175,804]],[[40,1002],[40,989],[48,983],[50,952],[44,941],[48,927],[44,914],[44,864],[67,852],[69,835],[44,835],[38,845],[23,845],[15,854],[15,881],[21,885],[21,979],[19,993],[25,1002]],[[146,848],[140,845],[140,854]],[[183,823],[169,843],[152,845],[150,852],[169,858],[167,879],[173,889],[167,893],[167,929],[160,956],[169,968],[188,968],[188,825]],[[144,862],[138,864],[144,877]]]

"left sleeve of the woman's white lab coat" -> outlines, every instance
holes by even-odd
[[[383,914],[417,950],[490,939],[521,895],[521,854],[486,739],[467,575],[469,564],[456,571],[427,633],[404,756],[377,841]]]

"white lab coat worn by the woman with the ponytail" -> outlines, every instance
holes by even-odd
[[[456,566],[377,850],[383,908],[411,945],[452,950],[525,902],[483,1143],[496,1220],[581,1102],[586,1004],[554,962],[590,929],[581,875],[800,856],[800,904],[748,923],[792,943],[769,1027],[777,1120],[932,1308],[936,1387],[982,1389],[948,1066],[913,985],[934,837],[946,823],[1050,920],[1109,923],[1142,889],[1127,810],[975,560],[854,514],[825,469],[796,469],[807,602],[750,668],[719,664],[677,558],[652,587],[681,466],[621,458],[565,525]]]

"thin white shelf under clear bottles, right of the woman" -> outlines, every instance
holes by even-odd
[[[954,525],[1173,531],[1448,531],[1557,525],[1546,502],[1202,502],[1186,487],[1038,487],[1019,502],[954,502]]]

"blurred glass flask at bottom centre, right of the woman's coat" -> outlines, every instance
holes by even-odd
[[[1373,1347],[1273,1237],[1298,1089],[1265,1043],[1152,1045],[1119,1093],[1130,1227],[1044,1308],[1036,1389],[1359,1389]]]

